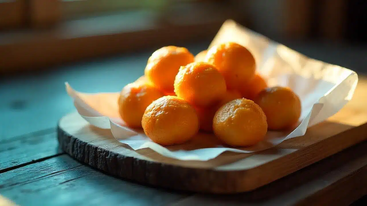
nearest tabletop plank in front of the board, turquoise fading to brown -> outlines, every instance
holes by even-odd
[[[348,205],[366,194],[367,142],[238,195],[194,195],[115,179],[67,155],[3,173],[0,194],[19,205]],[[326,202],[325,202],[326,201]]]

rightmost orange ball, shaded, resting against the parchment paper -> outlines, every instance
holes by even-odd
[[[301,116],[301,100],[286,87],[262,90],[255,98],[266,115],[269,129],[286,129],[298,122]]]

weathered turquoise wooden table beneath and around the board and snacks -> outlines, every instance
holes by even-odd
[[[187,47],[195,53],[206,45]],[[357,71],[367,68],[362,58],[366,49],[288,45]],[[63,83],[96,92],[90,84],[100,81],[99,91],[116,91],[143,74],[152,51],[0,79],[0,205],[4,198],[18,205],[348,205],[363,201],[357,199],[367,193],[366,142],[258,190],[215,196],[118,179],[62,152],[56,138],[57,121],[75,111]]]

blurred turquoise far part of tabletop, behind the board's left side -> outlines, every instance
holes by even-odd
[[[0,80],[0,139],[55,128],[58,119],[75,110],[65,92],[65,81],[86,92],[119,91],[143,74],[143,60],[147,55],[135,57],[89,62],[38,76]]]

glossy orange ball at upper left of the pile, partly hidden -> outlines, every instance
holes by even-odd
[[[166,93],[173,92],[173,83],[180,66],[194,61],[194,56],[183,47],[168,46],[155,51],[145,67],[145,76]]]

